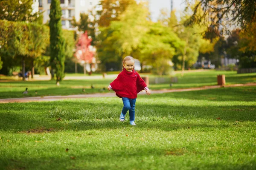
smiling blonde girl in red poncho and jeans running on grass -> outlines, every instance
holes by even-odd
[[[135,126],[135,102],[137,94],[144,89],[146,94],[150,95],[150,90],[140,75],[134,71],[134,62],[134,58],[131,56],[124,58],[122,72],[110,83],[108,90],[113,89],[116,92],[116,96],[122,98],[124,107],[122,108],[119,120],[123,122],[125,120],[125,114],[129,110],[130,124]]]

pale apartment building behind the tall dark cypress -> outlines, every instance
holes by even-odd
[[[52,0],[34,0],[38,1],[38,10],[43,12],[43,23],[48,23],[50,20],[50,6]],[[80,20],[80,13],[87,13],[89,10],[92,10],[94,7],[97,7],[100,0],[60,0],[61,1],[61,24],[62,28],[73,30],[75,29],[71,20],[73,17],[76,18],[76,21]]]

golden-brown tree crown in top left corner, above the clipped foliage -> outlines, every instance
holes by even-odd
[[[33,13],[33,0],[0,0],[0,20],[42,23],[39,12]]]

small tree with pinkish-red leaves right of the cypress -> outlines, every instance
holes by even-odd
[[[93,62],[94,51],[90,48],[92,39],[88,38],[87,31],[84,34],[81,34],[77,44],[75,57],[79,61],[84,61],[84,63],[91,64]]]

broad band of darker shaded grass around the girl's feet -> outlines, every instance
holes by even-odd
[[[69,103],[71,104],[72,102]],[[55,108],[55,106],[51,105],[47,108],[49,103],[44,102],[44,104],[44,107],[34,108],[33,112],[36,114],[31,113],[31,111],[26,113],[26,109],[22,105],[20,105],[20,108],[15,108],[16,111],[12,109],[8,113],[1,113],[0,130],[12,131],[13,133],[37,133],[40,129],[43,130],[41,132],[48,132],[49,129],[52,132],[57,132],[64,129],[104,130],[131,127],[128,120],[125,122],[119,121],[119,112],[117,112],[121,108],[119,106],[115,107],[116,110],[113,109],[113,111],[106,113],[99,113],[99,111],[92,113],[90,109],[72,111],[73,108],[66,108],[60,111],[64,113],[54,113],[52,116],[49,110],[51,110],[50,108]],[[76,107],[76,104],[73,104],[73,107]],[[98,107],[98,104],[90,103],[90,108],[93,107]],[[111,107],[113,105],[105,105],[108,110]],[[150,110],[145,111],[145,108],[150,108]],[[128,117],[127,113],[126,119]],[[58,121],[58,119],[61,121]],[[221,121],[227,123],[221,123]],[[138,106],[137,127],[135,128],[142,130],[160,129],[164,131],[180,129],[212,131],[239,125],[239,123],[235,123],[236,121],[239,123],[244,121],[255,122],[255,106],[172,106],[172,108],[165,105]]]

